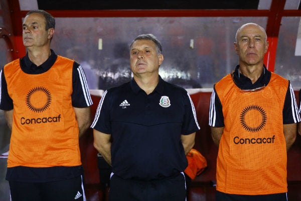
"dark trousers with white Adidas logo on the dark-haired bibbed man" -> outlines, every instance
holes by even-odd
[[[54,182],[10,181],[12,201],[85,201],[82,177]]]

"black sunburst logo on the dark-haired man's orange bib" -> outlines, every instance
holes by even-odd
[[[31,111],[35,113],[42,113],[49,108],[51,99],[51,93],[49,90],[45,87],[38,86],[27,93],[26,105]]]

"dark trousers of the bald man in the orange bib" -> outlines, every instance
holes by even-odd
[[[216,191],[216,201],[287,201],[286,192],[266,195],[239,195]]]

